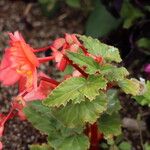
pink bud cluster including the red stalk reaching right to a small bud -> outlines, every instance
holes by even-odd
[[[57,62],[57,68],[64,71],[66,66],[69,64],[65,53],[66,51],[77,52],[79,49],[83,51],[86,56],[92,57],[96,62],[102,63],[103,58],[101,56],[94,56],[90,54],[83,44],[77,39],[75,34],[65,34],[65,38],[56,39],[50,46],[53,51],[53,56]]]

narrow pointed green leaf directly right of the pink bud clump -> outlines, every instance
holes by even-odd
[[[94,74],[100,69],[99,64],[95,62],[95,60],[91,57],[73,52],[68,52],[67,56],[70,60],[72,60],[75,64],[78,64],[80,67],[86,66],[86,72],[89,74]]]

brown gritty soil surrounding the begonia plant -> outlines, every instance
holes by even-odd
[[[7,32],[18,30],[32,47],[39,48],[49,45],[53,39],[63,36],[66,32],[83,34],[84,25],[85,17],[82,12],[68,8],[64,4],[59,8],[55,17],[48,18],[42,14],[36,1],[0,0],[0,58],[7,47]],[[103,40],[112,44],[116,42],[113,37],[112,34]],[[123,48],[122,55],[124,55]],[[128,64],[125,63],[125,65],[133,71]],[[49,64],[42,66],[42,69],[55,78],[59,77],[57,71],[52,66],[49,67]],[[8,112],[11,97],[16,94],[17,87],[8,88],[0,85],[0,112]],[[141,120],[146,123],[146,129],[142,133],[139,130],[132,131],[123,128],[124,138],[132,143],[133,150],[142,150],[141,140],[144,143],[150,141],[150,109],[140,107],[129,96],[121,94],[120,99],[123,106],[120,111],[122,118],[137,119],[137,116],[140,115]],[[46,137],[34,129],[28,121],[20,121],[16,117],[6,123],[2,141],[4,150],[28,150],[29,144],[46,142]]]

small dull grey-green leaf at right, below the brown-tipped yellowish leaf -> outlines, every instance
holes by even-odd
[[[114,89],[108,90],[107,97],[108,97],[107,113],[110,115],[114,112],[117,113],[121,108],[121,105],[118,99],[117,90],[114,90]]]

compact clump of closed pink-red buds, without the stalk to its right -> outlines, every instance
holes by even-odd
[[[58,38],[54,41],[51,46],[53,51],[53,56],[55,57],[55,61],[57,62],[57,68],[61,71],[64,71],[68,62],[64,57],[66,50],[71,52],[76,52],[81,43],[76,38],[75,34],[65,34],[65,38]]]

